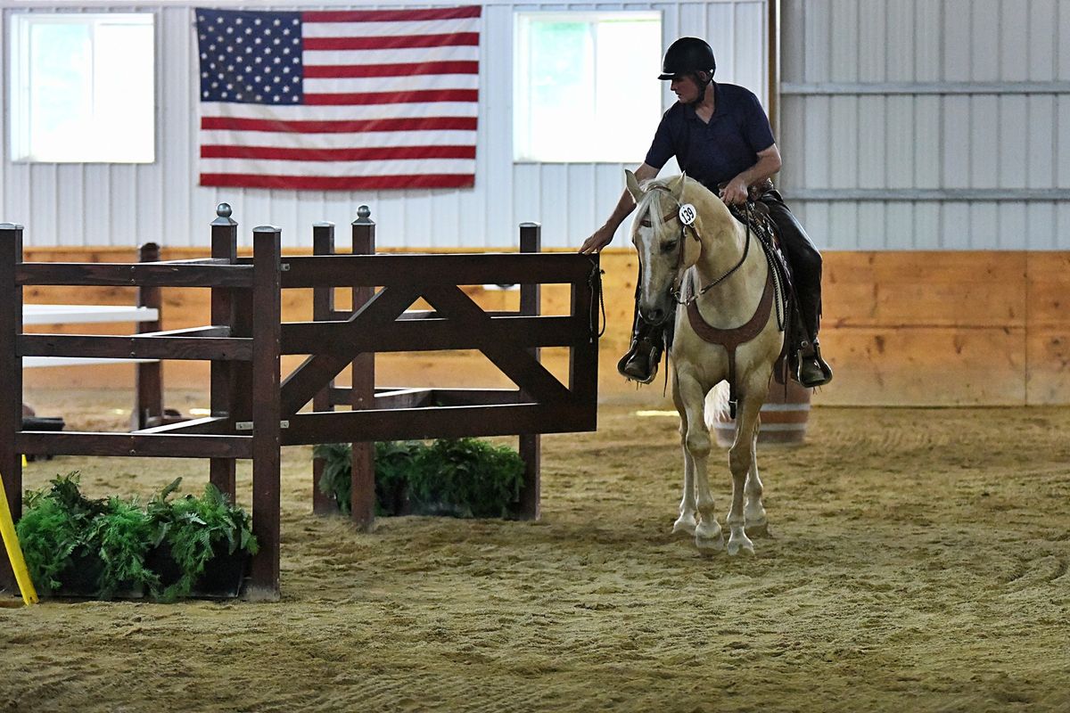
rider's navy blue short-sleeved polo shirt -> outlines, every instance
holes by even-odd
[[[758,97],[743,87],[714,82],[714,104],[708,124],[691,106],[669,107],[644,162],[660,169],[675,156],[682,171],[714,191],[756,164],[758,152],[774,144]]]

